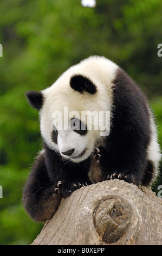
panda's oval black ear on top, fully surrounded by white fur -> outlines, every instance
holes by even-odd
[[[70,86],[79,93],[86,91],[90,94],[97,92],[95,84],[89,78],[82,75],[74,75],[70,78]]]

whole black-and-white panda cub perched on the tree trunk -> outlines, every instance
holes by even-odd
[[[34,220],[49,220],[61,197],[94,182],[147,186],[155,180],[161,155],[152,111],[111,60],[89,57],[47,89],[26,95],[39,111],[43,138],[22,199]]]

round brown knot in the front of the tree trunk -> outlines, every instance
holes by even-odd
[[[102,201],[94,210],[94,225],[103,242],[114,243],[125,235],[131,221],[131,206],[121,199]]]

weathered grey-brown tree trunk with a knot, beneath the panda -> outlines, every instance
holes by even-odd
[[[82,187],[32,245],[162,245],[162,199],[118,179]]]

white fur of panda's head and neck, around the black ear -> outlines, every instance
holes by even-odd
[[[92,56],[69,68],[52,86],[42,91],[45,101],[40,111],[41,134],[49,148],[56,150],[61,155],[62,151],[72,148],[75,148],[74,155],[79,155],[87,148],[85,155],[80,159],[70,157],[70,160],[74,162],[82,161],[92,153],[95,142],[100,139],[99,131],[88,131],[85,136],[81,136],[72,130],[60,130],[56,145],[51,139],[51,124],[53,122],[51,116],[54,111],[61,111],[63,114],[65,106],[68,107],[69,112],[77,111],[80,116],[82,111],[111,111],[113,102],[112,86],[116,69],[118,69],[118,65],[111,60],[105,57]],[[70,77],[75,74],[90,78],[97,87],[97,93],[92,95],[83,92],[81,94],[72,89],[69,81]],[[69,159],[69,156],[62,155],[62,157]]]

